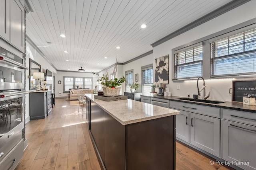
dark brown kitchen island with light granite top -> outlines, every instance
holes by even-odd
[[[175,115],[135,100],[106,102],[86,94],[86,120],[102,169],[174,170]]]

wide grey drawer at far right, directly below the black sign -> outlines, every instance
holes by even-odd
[[[256,113],[245,111],[237,111],[230,109],[222,109],[222,119],[246,123],[249,125],[256,125]]]

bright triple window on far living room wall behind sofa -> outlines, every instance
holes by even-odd
[[[64,92],[68,92],[70,88],[90,88],[92,89],[92,78],[87,77],[63,77]]]

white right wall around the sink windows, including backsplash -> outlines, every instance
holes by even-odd
[[[154,47],[154,57],[156,59],[158,57],[162,57],[164,55],[169,54],[169,68],[172,66],[172,49],[178,47],[180,45],[184,45],[191,41],[195,41],[207,35],[211,35],[212,33],[216,33],[223,29],[227,29],[239,23],[254,19],[256,16],[256,1],[250,1],[238,8],[235,8],[221,16],[214,18],[194,29],[191,29],[165,43],[162,43],[156,47]],[[152,59],[152,62],[153,62]],[[139,63],[139,62],[138,62]],[[130,63],[129,63],[130,64]],[[154,66],[155,68],[155,66]],[[187,97],[190,94],[197,94],[196,81],[188,81],[188,82],[172,82],[171,80],[171,72],[169,69],[169,84],[166,87],[169,87],[172,96],[182,96]],[[243,79],[255,79],[255,78],[243,78]],[[214,100],[225,100],[231,101],[231,94],[229,94],[229,88],[232,88],[232,80],[235,79],[222,79],[222,80],[206,80],[206,93],[210,91],[210,98]],[[240,79],[239,79],[240,80]],[[176,90],[176,85],[180,85],[180,90]],[[202,81],[200,81],[199,88],[202,87]]]

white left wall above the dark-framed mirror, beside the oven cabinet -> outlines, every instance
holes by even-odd
[[[41,71],[45,72],[46,69],[50,70],[53,73],[57,71],[26,41],[26,67],[29,67],[29,59],[36,61],[36,63],[41,65]],[[26,91],[29,91],[29,70],[26,70]],[[30,120],[30,105],[29,105],[29,94],[26,94],[26,123]]]

